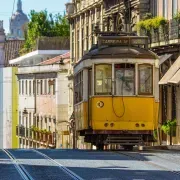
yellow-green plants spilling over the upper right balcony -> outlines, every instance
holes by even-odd
[[[151,31],[151,29],[158,29],[167,24],[167,20],[163,17],[154,17],[151,19],[145,19],[137,23],[139,30]]]

